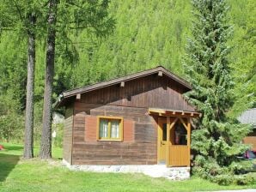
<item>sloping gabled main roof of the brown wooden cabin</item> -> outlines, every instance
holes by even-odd
[[[121,82],[125,82],[125,81],[131,81],[131,80],[135,80],[144,76],[148,76],[148,75],[154,75],[154,74],[158,74],[159,72],[162,72],[162,75],[166,75],[168,78],[178,82],[180,84],[180,86],[185,87],[188,91],[192,89],[192,87],[189,85],[189,83],[180,78],[178,75],[174,75],[174,73],[168,71],[167,69],[165,69],[162,66],[158,66],[154,69],[148,69],[148,70],[144,70],[141,72],[137,72],[135,74],[131,74],[131,75],[127,75],[124,77],[119,77],[113,80],[109,80],[109,81],[103,81],[103,82],[99,82],[90,86],[86,86],[86,87],[79,87],[76,89],[71,89],[71,90],[67,90],[64,91],[62,94],[60,94],[60,96],[58,97],[58,103],[56,105],[56,107],[58,105],[60,105],[62,103],[62,101],[64,99],[76,96],[76,94],[78,93],[88,93],[103,87],[110,87],[113,85],[117,85]]]

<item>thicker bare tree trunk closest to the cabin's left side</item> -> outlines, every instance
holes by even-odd
[[[49,1],[48,33],[46,47],[46,75],[43,111],[43,129],[40,144],[40,158],[52,158],[52,81],[54,75],[55,34],[57,0]]]

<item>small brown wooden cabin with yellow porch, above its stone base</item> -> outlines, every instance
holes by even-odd
[[[192,87],[162,66],[65,91],[64,160],[70,165],[190,166]]]

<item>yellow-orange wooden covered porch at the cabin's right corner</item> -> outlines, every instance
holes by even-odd
[[[149,108],[157,120],[157,164],[190,166],[191,120],[200,113]]]

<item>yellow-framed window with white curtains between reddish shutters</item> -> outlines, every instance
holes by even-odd
[[[98,140],[122,141],[123,118],[122,117],[98,117]]]

